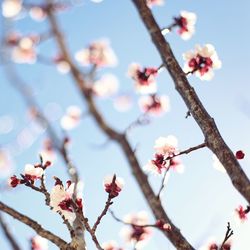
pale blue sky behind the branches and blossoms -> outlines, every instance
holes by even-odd
[[[250,24],[250,3],[240,1],[198,1],[175,0],[166,1],[163,7],[153,8],[154,15],[160,26],[168,25],[172,17],[181,10],[197,14],[196,34],[189,41],[181,40],[176,33],[167,37],[174,54],[183,65],[182,53],[192,49],[195,44],[211,43],[215,46],[222,61],[222,68],[215,72],[210,82],[202,82],[190,77],[208,112],[213,116],[228,145],[233,151],[242,149],[246,157],[241,161],[245,172],[250,175],[250,98],[249,98],[249,61],[250,38],[247,34]],[[160,57],[151,43],[131,1],[104,0],[96,4],[85,0],[82,5],[58,15],[66,41],[72,53],[85,47],[91,41],[108,38],[117,54],[119,64],[116,68],[105,68],[98,74],[113,73],[120,81],[122,92],[133,93],[131,79],[126,76],[128,65],[139,62],[144,66],[159,66]],[[41,23],[32,21],[29,17],[14,21],[13,29],[29,33],[48,30],[46,20]],[[2,33],[3,26],[0,31]],[[39,46],[39,52],[52,57],[57,52],[53,39]],[[36,65],[18,65],[17,69],[23,79],[34,89],[35,97],[40,106],[45,108],[48,103],[57,103],[62,110],[69,105],[79,105],[85,110],[85,103],[77,92],[71,77],[59,74],[55,67],[37,63]],[[14,129],[8,134],[0,134],[0,145],[10,148],[15,144],[17,135],[24,128],[30,128],[27,109],[20,95],[8,83],[4,71],[0,68],[0,117],[10,115],[15,121]],[[155,139],[159,136],[174,134],[179,140],[179,148],[186,149],[203,142],[203,135],[190,117],[185,119],[186,107],[174,89],[172,80],[167,72],[158,77],[159,93],[167,94],[170,98],[171,111],[160,118],[153,119],[147,126],[135,128],[129,135],[131,144],[138,146],[137,156],[143,165],[153,154]],[[138,96],[133,94],[134,106],[126,113],[118,113],[111,100],[97,100],[98,107],[106,120],[120,131],[124,130],[138,115]],[[60,133],[59,121],[53,126]],[[84,206],[90,221],[94,221],[103,208],[106,194],[102,188],[102,179],[106,174],[116,172],[125,179],[126,185],[122,194],[116,199],[113,210],[119,217],[131,211],[147,210],[142,194],[138,189],[126,159],[114,143],[96,149],[106,141],[90,117],[83,119],[80,126],[69,132],[72,138],[70,154],[78,166],[84,181]],[[37,161],[42,139],[39,135],[31,147],[13,155],[15,173],[22,171],[24,164]],[[208,237],[215,236],[221,242],[226,230],[227,221],[233,221],[233,211],[239,205],[246,205],[244,199],[232,188],[229,178],[214,170],[212,153],[207,149],[183,156],[186,166],[185,173],[171,173],[164,193],[163,204],[173,222],[181,228],[186,238],[199,247]],[[51,187],[52,176],[57,175],[67,180],[63,162],[58,159],[54,166],[47,171],[47,183]],[[4,180],[4,179],[2,179]],[[150,176],[152,185],[157,190],[161,179]],[[1,200],[17,208],[19,211],[37,219],[45,228],[69,239],[60,218],[44,206],[39,194],[34,194],[23,187],[13,191],[3,192]],[[33,232],[19,222],[6,217],[11,228],[17,235],[23,249],[28,249],[27,239]],[[153,218],[151,217],[153,221]],[[100,242],[119,237],[121,225],[110,216],[105,217],[98,230]],[[247,221],[240,227],[233,228],[233,248],[245,250],[249,248],[250,224]],[[10,249],[0,234],[1,249]],[[88,239],[89,249],[95,249]],[[164,247],[163,247],[164,246]],[[50,245],[50,249],[56,249]],[[161,233],[155,232],[146,250],[174,249]]]

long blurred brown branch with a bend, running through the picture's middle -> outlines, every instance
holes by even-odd
[[[51,4],[50,0],[47,0],[48,4]],[[129,164],[133,175],[135,176],[139,187],[141,188],[145,199],[147,200],[154,216],[156,219],[162,219],[166,223],[171,225],[172,230],[170,232],[164,232],[166,237],[177,247],[185,250],[191,250],[193,247],[181,234],[180,230],[171,222],[170,218],[167,216],[164,208],[162,207],[160,201],[157,199],[152,187],[150,186],[147,176],[142,171],[140,164],[135,156],[133,149],[131,148],[128,139],[125,134],[119,133],[111,128],[106,121],[103,119],[99,111],[97,110],[94,100],[92,98],[91,92],[89,91],[88,86],[86,86],[85,79],[81,71],[74,64],[71,59],[70,53],[66,47],[63,35],[61,34],[60,28],[58,26],[56,17],[51,8],[48,9],[48,20],[51,25],[51,29],[55,35],[58,47],[61,50],[64,60],[69,64],[71,69],[71,76],[77,84],[84,100],[88,105],[89,112],[92,114],[94,120],[96,121],[99,128],[112,140],[116,141],[118,145],[123,150]],[[86,228],[87,229],[87,228]],[[88,230],[88,229],[87,229]]]

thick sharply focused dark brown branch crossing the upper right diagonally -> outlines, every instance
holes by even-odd
[[[144,0],[133,0],[138,13],[145,24],[153,43],[161,55],[162,61],[173,78],[175,88],[186,103],[188,110],[200,126],[207,147],[218,157],[225,167],[234,187],[250,203],[250,181],[242,170],[233,152],[224,142],[214,119],[208,114],[195,90],[189,84],[185,73],[177,62],[169,43]]]

